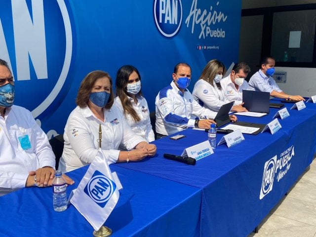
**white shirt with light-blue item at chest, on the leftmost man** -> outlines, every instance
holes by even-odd
[[[55,167],[46,134],[30,111],[13,105],[0,116],[0,196],[25,187],[30,171]]]

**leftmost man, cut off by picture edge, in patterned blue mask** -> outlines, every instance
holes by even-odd
[[[0,59],[0,196],[23,187],[51,186],[55,174],[46,134],[30,111],[13,105],[14,96],[12,74]]]

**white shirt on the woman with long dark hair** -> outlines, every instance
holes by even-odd
[[[155,134],[152,128],[152,124],[150,123],[149,117],[149,109],[147,101],[144,97],[136,95],[137,104],[135,104],[134,99],[127,96],[129,101],[131,102],[133,109],[136,111],[137,115],[140,118],[140,121],[136,122],[130,114],[126,114],[124,116],[124,111],[122,107],[122,103],[118,96],[115,98],[115,105],[120,109],[121,113],[125,117],[128,125],[131,127],[135,134],[141,136],[146,139],[147,142],[152,142],[155,140]]]

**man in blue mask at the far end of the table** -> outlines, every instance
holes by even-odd
[[[256,91],[269,92],[271,96],[301,101],[305,100],[300,95],[289,95],[284,93],[280,87],[276,84],[276,81],[272,78],[275,73],[276,60],[272,56],[263,57],[260,61],[261,68],[256,72],[249,80],[249,86],[254,88]]]

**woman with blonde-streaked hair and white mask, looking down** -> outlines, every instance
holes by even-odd
[[[192,93],[201,106],[218,112],[222,105],[230,102],[226,99],[220,83],[224,74],[225,66],[222,62],[213,59],[206,64]],[[242,106],[233,106],[232,111],[244,111],[242,108]]]

